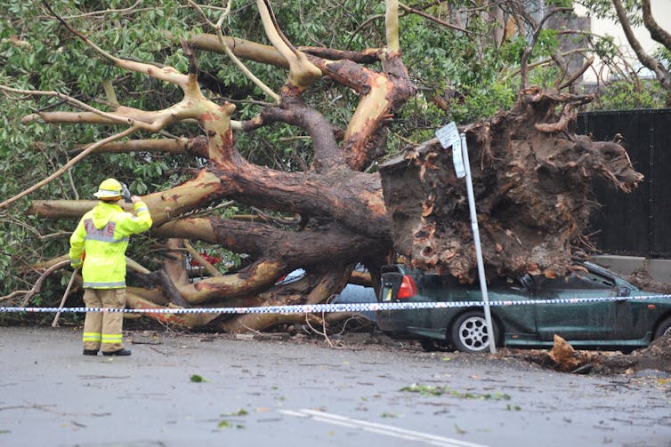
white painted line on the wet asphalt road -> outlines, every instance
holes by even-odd
[[[486,447],[482,444],[467,443],[459,441],[458,439],[446,438],[443,436],[431,435],[428,433],[417,432],[414,430],[406,430],[405,428],[393,427],[385,424],[377,424],[376,422],[368,422],[367,420],[352,419],[337,414],[327,413],[326,411],[315,410],[280,410],[280,413],[288,416],[295,416],[298,418],[308,418],[318,420],[319,422],[327,422],[344,427],[362,428],[372,433],[380,435],[393,436],[408,441],[420,441],[430,445],[438,445],[441,447]]]

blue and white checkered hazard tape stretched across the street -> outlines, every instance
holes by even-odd
[[[564,299],[527,299],[489,301],[490,307],[505,306],[537,306],[539,304],[578,304],[598,303],[607,301],[630,301],[645,299],[669,299],[671,295],[641,295],[631,297],[586,297]],[[671,304],[671,301],[669,302]],[[0,312],[101,312],[128,314],[311,314],[320,312],[365,312],[376,310],[402,309],[433,309],[452,307],[484,307],[484,301],[449,301],[449,302],[384,302],[384,303],[340,303],[340,304],[302,304],[292,306],[265,307],[164,307],[141,309],[110,309],[107,307],[0,307]]]

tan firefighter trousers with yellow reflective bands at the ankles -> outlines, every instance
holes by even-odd
[[[123,309],[125,289],[85,289],[86,307]],[[84,320],[84,348],[113,352],[124,348],[124,314],[122,312],[86,312]]]

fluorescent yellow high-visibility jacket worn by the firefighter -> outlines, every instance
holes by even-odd
[[[125,287],[125,249],[128,237],[151,227],[151,216],[144,202],[133,204],[136,215],[117,204],[99,202],[79,220],[70,236],[70,262],[82,266],[84,287],[119,289]]]

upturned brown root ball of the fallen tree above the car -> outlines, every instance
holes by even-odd
[[[584,232],[598,206],[593,181],[629,192],[643,180],[617,143],[594,142],[566,128],[571,106],[585,100],[529,90],[511,110],[461,129],[488,277],[565,274],[587,257]],[[473,225],[452,148],[429,140],[380,172],[395,250],[414,267],[473,282]]]

